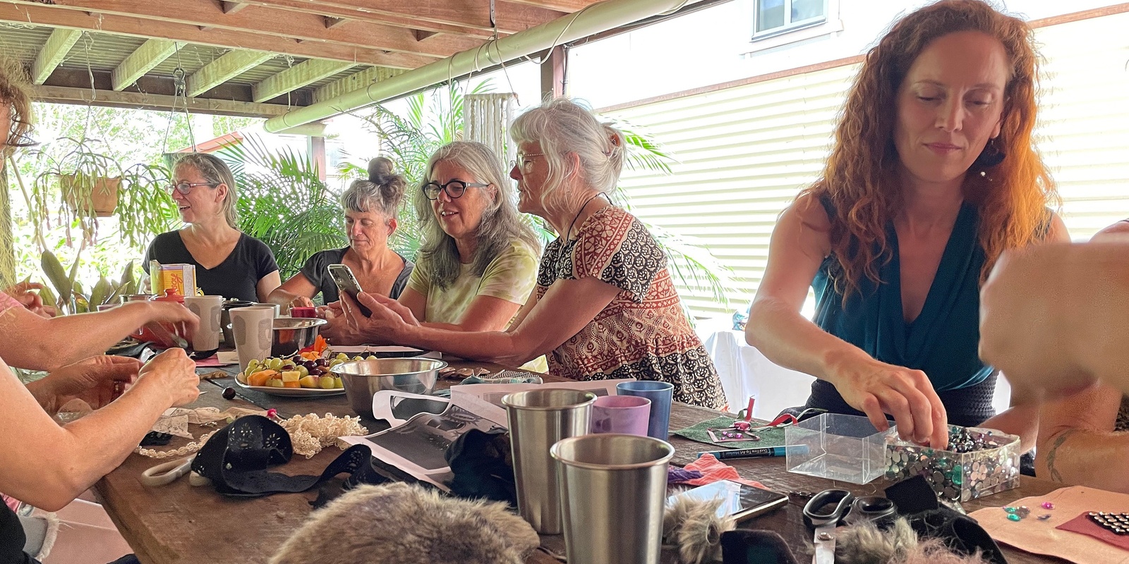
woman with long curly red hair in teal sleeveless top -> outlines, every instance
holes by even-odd
[[[977,354],[980,284],[1009,248],[1068,240],[1035,151],[1038,54],[1022,20],[942,0],[895,23],[843,107],[822,178],[772,233],[746,340],[817,378],[811,407],[893,416],[903,439],[946,422],[1034,438],[1033,408],[992,417]],[[807,287],[814,321],[799,315]]]

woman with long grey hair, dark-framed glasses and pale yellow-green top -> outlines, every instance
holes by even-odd
[[[522,221],[501,162],[489,147],[448,143],[431,156],[415,193],[423,243],[400,303],[429,327],[501,331],[530,297],[540,241]],[[331,305],[336,344],[374,342],[350,334]]]

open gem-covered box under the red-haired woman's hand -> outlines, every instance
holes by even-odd
[[[966,432],[989,448],[971,452],[936,450],[890,435],[886,478],[925,476],[938,496],[969,501],[1019,485],[1019,438],[991,429],[948,425],[951,437]]]

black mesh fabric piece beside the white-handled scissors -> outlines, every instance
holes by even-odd
[[[339,474],[349,474],[347,487],[387,481],[373,468],[373,452],[364,444],[347,449],[320,476],[287,476],[266,470],[290,461],[292,456],[286,429],[261,415],[247,415],[204,443],[192,461],[192,472],[210,479],[217,492],[238,497],[305,492]]]

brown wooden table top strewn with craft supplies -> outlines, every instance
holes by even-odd
[[[452,364],[483,365],[458,362]],[[440,380],[439,387],[449,387],[457,381]],[[247,405],[251,403],[264,408],[273,407],[282,417],[308,413],[355,415],[343,395],[289,398],[237,388],[240,397],[227,400],[222,398],[221,391],[228,386],[235,386],[230,378],[201,381],[202,394],[191,407],[227,409],[234,406],[251,407]],[[671,429],[683,429],[715,416],[717,412],[711,409],[674,404],[671,409]],[[370,432],[387,426],[370,418],[362,418],[361,422]],[[193,425],[190,431],[200,437],[203,434],[201,429]],[[174,437],[168,447],[158,449],[174,449],[186,442],[189,441],[185,439]],[[677,466],[693,461],[698,451],[708,449],[702,443],[676,435],[671,435],[671,443],[675,447],[675,456],[671,462]],[[321,474],[339,453],[340,450],[330,447],[310,459],[295,456],[287,465],[272,470],[290,475]],[[310,513],[309,502],[317,495],[315,488],[304,493],[275,494],[253,500],[228,499],[218,495],[211,487],[190,486],[187,478],[181,478],[163,487],[141,485],[139,481],[141,473],[163,461],[165,460],[130,455],[117,469],[95,486],[110,517],[145,564],[265,563],[306,520]],[[764,486],[780,492],[819,492],[839,487],[857,494],[874,495],[881,494],[881,490],[889,485],[878,481],[859,486],[791,474],[785,469],[784,458],[739,459],[728,460],[727,464],[737,468],[742,477],[759,481]],[[1024,476],[1018,488],[965,502],[963,505],[972,512],[983,506],[1006,505],[1021,497],[1042,495],[1058,487],[1058,484]],[[803,522],[802,509],[805,501],[794,496],[787,506],[745,521],[742,528],[769,529],[778,532],[793,548],[797,561],[807,562],[811,558],[811,553],[806,548],[811,544],[811,532]],[[559,535],[542,536],[542,544],[559,554],[564,552],[563,537]],[[1003,548],[1008,562],[1014,564],[1062,562],[1007,546]],[[557,561],[537,552],[526,562],[552,564]]]

